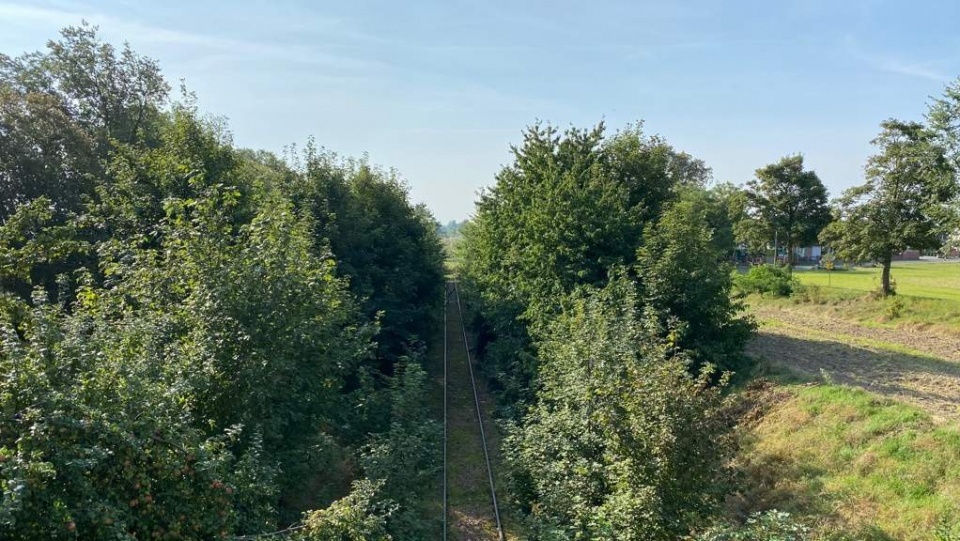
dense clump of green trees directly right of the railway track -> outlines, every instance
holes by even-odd
[[[462,280],[534,539],[677,539],[732,449],[752,328],[710,170],[642,126],[534,125],[464,228]]]

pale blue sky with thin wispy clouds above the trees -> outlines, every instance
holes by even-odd
[[[736,184],[801,152],[838,195],[881,120],[921,119],[960,75],[948,1],[0,0],[0,52],[82,18],[185,79],[238,145],[366,152],[441,221],[537,119],[644,120]]]

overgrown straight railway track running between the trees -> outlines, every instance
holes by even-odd
[[[467,373],[469,374],[469,387],[472,394],[472,406],[475,410],[475,421],[476,426],[479,432],[478,443],[483,450],[483,466],[485,467],[486,481],[489,485],[489,505],[492,506],[492,518],[496,524],[496,538],[499,541],[504,541],[503,533],[503,524],[500,519],[500,506],[497,502],[497,491],[496,484],[494,483],[493,475],[493,466],[490,460],[490,449],[487,438],[487,433],[483,426],[483,411],[481,408],[480,393],[477,389],[477,380],[473,371],[473,362],[470,358],[470,344],[467,339],[466,327],[463,324],[463,306],[460,302],[460,291],[457,287],[457,282],[447,282],[446,288],[446,300],[444,302],[444,326],[443,326],[443,539],[446,541],[448,539],[448,534],[451,529],[451,524],[449,519],[451,517],[451,505],[450,505],[450,473],[451,473],[451,446],[450,446],[450,435],[451,435],[451,419],[453,414],[458,414],[456,419],[460,422],[458,427],[462,428],[464,417],[463,411],[451,412],[451,394],[453,394],[454,399],[464,398],[464,393],[462,392],[463,384],[465,382],[451,381],[452,374],[462,371],[463,367],[460,364],[466,364]],[[453,327],[454,332],[450,332],[450,328]],[[453,336],[451,336],[453,335]],[[454,355],[454,351],[459,352],[460,344],[462,343],[462,351],[465,353],[463,356]],[[458,358],[459,357],[459,358]],[[461,391],[459,393],[451,393],[451,386],[457,387],[457,390]],[[464,400],[457,400],[457,406],[464,406]],[[469,406],[467,406],[469,407]],[[463,453],[463,449],[455,449],[454,453]],[[455,454],[452,458],[463,458],[463,456],[457,456]],[[462,466],[462,464],[461,464]],[[475,466],[475,465],[474,465]],[[460,482],[470,482],[470,476],[458,476],[456,479]],[[482,483],[482,481],[480,481]],[[471,483],[474,484],[474,483]],[[465,488],[465,487],[457,487]],[[466,487],[474,493],[478,491],[478,487]],[[459,492],[459,491],[458,491]],[[484,513],[486,514],[486,513]],[[456,537],[457,539],[479,539],[480,537],[476,536],[476,533],[473,535],[466,535]]]

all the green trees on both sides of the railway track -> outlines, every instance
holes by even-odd
[[[0,537],[431,537],[455,232],[531,537],[700,530],[750,370],[735,250],[819,239],[889,292],[894,252],[957,230],[958,118],[960,84],[884,122],[833,204],[802,156],[739,188],[639,124],[536,124],[443,229],[395,171],[237,148],[89,26],[0,55]]]

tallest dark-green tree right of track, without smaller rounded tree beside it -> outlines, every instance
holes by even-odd
[[[508,403],[535,388],[530,331],[575,288],[632,265],[646,224],[709,172],[639,126],[604,137],[602,124],[563,134],[535,125],[512,150],[462,249],[465,290],[483,318],[479,347]]]

